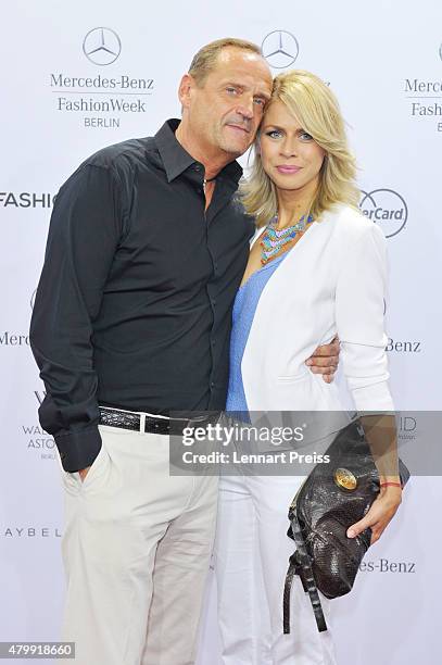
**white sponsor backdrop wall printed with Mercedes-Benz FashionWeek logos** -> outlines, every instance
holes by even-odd
[[[250,39],[275,74],[311,70],[337,92],[361,205],[389,238],[395,402],[440,410],[441,18],[440,0],[3,4],[0,640],[56,640],[63,603],[59,467],[27,337],[52,198],[91,152],[179,115],[177,85],[203,43]],[[417,427],[404,422],[401,436]],[[340,665],[437,660],[441,498],[439,478],[413,478],[355,589],[336,601]],[[199,665],[218,662],[214,606],[211,585]]]

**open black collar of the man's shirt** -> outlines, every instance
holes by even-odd
[[[155,134],[155,143],[163,161],[167,180],[171,183],[181,175],[192,164],[198,164],[197,160],[189,154],[179,141],[175,138],[175,131],[180,121],[171,118]],[[242,175],[242,168],[237,161],[230,162],[222,171],[223,176],[227,176],[238,185]]]

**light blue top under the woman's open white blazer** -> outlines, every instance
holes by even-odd
[[[285,252],[264,265],[261,269],[256,271],[256,273],[253,273],[247,283],[239,288],[235,299],[230,336],[230,374],[226,411],[230,412],[230,415],[232,415],[232,413],[237,414],[237,417],[242,421],[247,419],[245,414],[249,412],[242,384],[242,356],[261,293],[287,254],[288,252]],[[239,414],[241,414],[241,416],[239,416]]]

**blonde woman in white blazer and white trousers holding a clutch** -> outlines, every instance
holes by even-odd
[[[394,409],[383,329],[386,239],[357,209],[354,176],[330,89],[308,72],[277,76],[240,189],[258,230],[233,306],[227,411],[342,410],[337,386],[305,366],[336,335],[356,409]],[[298,577],[291,632],[282,633],[294,549],[287,512],[302,479],[222,477],[215,561],[224,665],[336,665],[331,631],[317,631]],[[399,478],[388,480],[353,527],[358,534],[370,526],[371,543],[401,502]],[[329,601],[321,601],[330,624]]]

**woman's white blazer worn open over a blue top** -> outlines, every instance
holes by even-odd
[[[305,365],[338,334],[356,409],[392,411],[386,289],[387,241],[379,226],[346,205],[313,222],[261,294],[241,363],[249,410],[342,409],[336,385]]]

